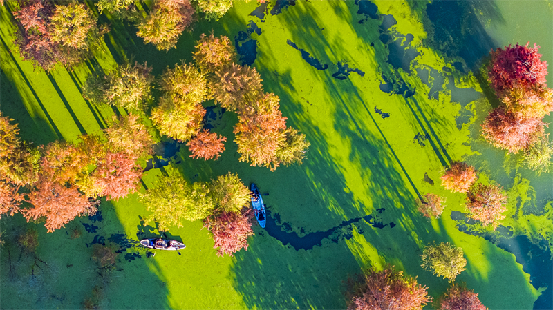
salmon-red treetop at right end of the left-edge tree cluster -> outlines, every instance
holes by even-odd
[[[100,195],[106,196],[106,200],[119,200],[137,191],[142,168],[135,162],[135,155],[108,152],[92,174],[95,186],[102,188]]]

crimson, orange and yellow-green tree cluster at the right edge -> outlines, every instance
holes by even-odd
[[[488,77],[501,105],[490,111],[481,132],[497,148],[521,153],[522,162],[541,173],[549,171],[553,153],[542,121],[553,110],[553,90],[538,48],[517,43],[491,52]]]

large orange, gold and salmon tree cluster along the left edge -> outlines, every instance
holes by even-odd
[[[118,200],[140,184],[140,156],[151,154],[152,140],[138,116],[115,118],[102,135],[78,142],[34,147],[21,142],[17,125],[0,115],[0,214],[22,213],[44,219],[48,232],[97,211],[97,197]],[[21,208],[22,202],[30,206]]]

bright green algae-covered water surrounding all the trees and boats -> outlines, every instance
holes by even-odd
[[[527,41],[551,64],[551,1],[236,2],[220,21],[197,23],[169,52],[112,20],[104,52],[73,72],[50,74],[21,60],[13,17],[6,6],[0,14],[0,110],[26,141],[73,141],[106,126],[113,110],[80,95],[94,66],[110,68],[128,55],[158,75],[191,61],[194,42],[213,30],[235,43],[239,62],[256,67],[265,91],[279,95],[288,124],[311,144],[301,166],[250,167],[238,162],[232,142],[236,115],[210,108],[209,126],[229,140],[218,161],[191,159],[186,146],[160,151],[189,180],[231,171],[269,194],[266,229],[254,226],[247,251],[234,258],[216,256],[200,222],[167,233],[187,244],[182,255],[149,258],[136,243],[158,231],[143,225],[147,211],[137,195],[102,200],[99,215],[54,233],[21,215],[2,217],[2,309],[77,309],[96,286],[102,309],[343,309],[348,275],[385,264],[418,276],[437,298],[447,281],[420,267],[422,247],[433,240],[462,247],[467,270],[458,280],[489,309],[553,309],[553,174],[521,168],[478,135],[498,103],[479,66],[491,48]],[[467,221],[463,195],[440,186],[453,160],[508,191],[496,232]],[[145,173],[144,186],[160,169]],[[425,193],[447,197],[439,220],[416,212],[415,199]],[[36,258],[17,245],[28,226],[39,231]],[[70,238],[73,229],[82,236]],[[91,246],[110,242],[121,253],[115,271],[102,276]]]

